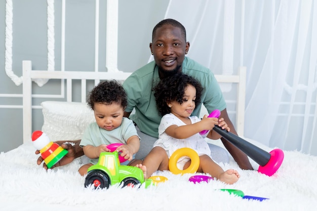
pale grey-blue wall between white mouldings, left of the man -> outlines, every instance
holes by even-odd
[[[63,1],[54,2],[55,69],[61,69],[61,14]],[[168,0],[120,0],[118,2],[118,69],[132,72],[148,62],[154,25],[164,19]],[[12,3],[12,14],[6,12]],[[8,5],[7,5],[8,6]],[[9,5],[10,6],[10,5]],[[65,70],[90,70],[95,62],[95,1],[65,1]],[[105,71],[106,1],[99,1],[99,66]],[[0,152],[22,144],[22,85],[16,86],[6,74],[6,15],[12,18],[12,71],[22,75],[22,60],[33,69],[48,69],[48,3],[43,0],[0,0]],[[9,7],[10,8],[10,7]],[[42,87],[56,92],[58,86]],[[53,86],[53,89],[52,89]],[[33,90],[37,91],[37,85]],[[16,94],[18,96],[16,96]],[[78,96],[78,101],[80,97]],[[76,100],[76,99],[75,99]],[[39,105],[40,102],[33,102]],[[33,110],[33,130],[41,130],[42,111]]]

